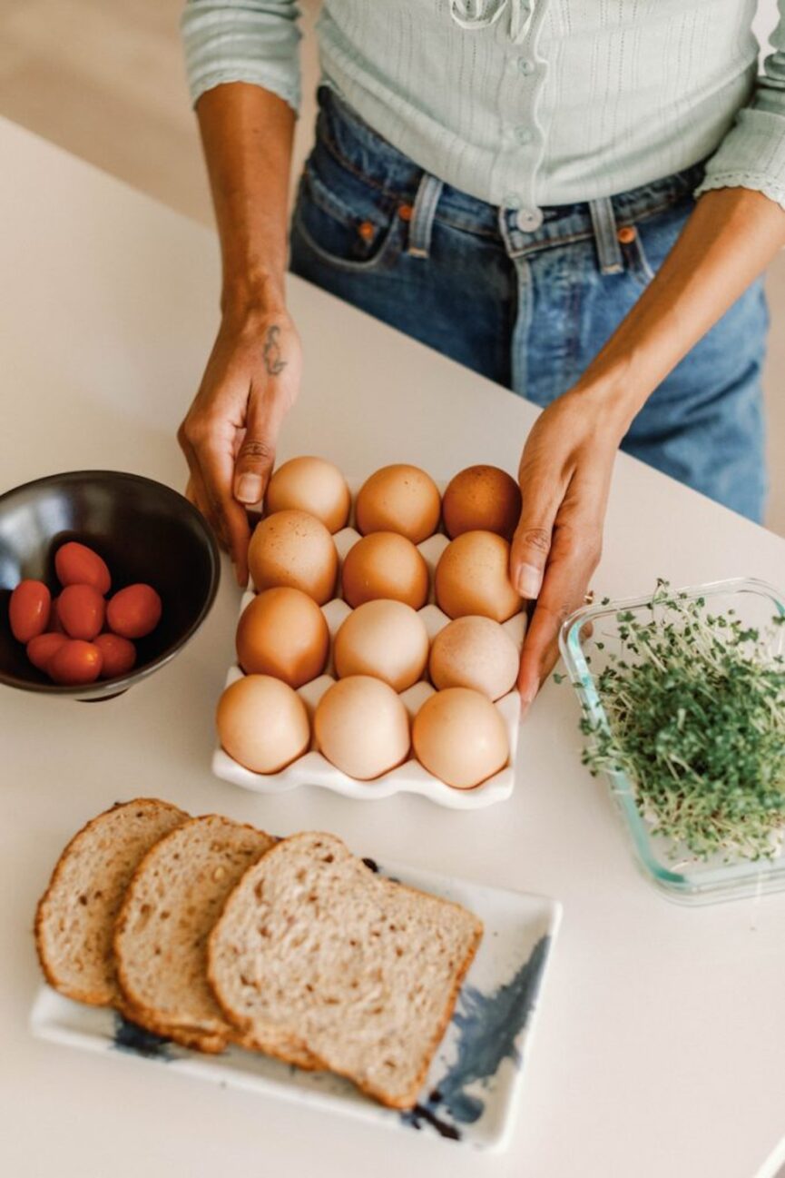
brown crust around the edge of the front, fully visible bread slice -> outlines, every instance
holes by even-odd
[[[264,860],[265,860],[265,862],[268,865],[270,863],[270,856],[284,853],[287,843],[290,843],[292,840],[301,839],[302,836],[317,838],[317,839],[327,839],[327,840],[335,840],[337,842],[339,842],[341,846],[345,847],[345,843],[342,843],[342,841],[340,839],[338,839],[337,835],[327,834],[325,832],[300,832],[298,834],[291,835],[288,839],[281,839],[280,842],[278,842],[274,847],[271,847],[271,849],[267,852],[267,854],[262,856]],[[347,849],[347,848],[345,848],[345,849]],[[350,854],[351,854],[351,852],[350,852]],[[357,859],[357,856],[352,856],[352,858]],[[417,1104],[417,1098],[418,1098],[418,1096],[420,1093],[420,1090],[421,1090],[421,1087],[423,1087],[423,1085],[425,1083],[425,1079],[427,1077],[428,1068],[430,1068],[431,1063],[433,1060],[433,1055],[435,1054],[437,1048],[439,1047],[439,1044],[441,1043],[441,1040],[444,1038],[444,1034],[445,1034],[445,1032],[447,1030],[447,1026],[450,1025],[450,1020],[452,1019],[452,1014],[453,1014],[453,1011],[455,1008],[455,1002],[458,1001],[458,994],[460,993],[460,988],[461,988],[463,981],[464,981],[464,979],[466,977],[466,973],[468,972],[468,968],[470,968],[472,961],[474,960],[474,957],[477,954],[477,949],[478,949],[479,944],[480,944],[480,941],[483,939],[483,922],[477,916],[474,916],[473,913],[470,913],[461,905],[454,904],[452,900],[445,900],[441,896],[433,895],[433,893],[424,892],[421,888],[414,888],[414,887],[410,887],[408,885],[397,884],[393,880],[387,880],[387,879],[379,879],[378,880],[378,884],[386,885],[393,892],[395,892],[399,888],[405,888],[405,891],[408,892],[408,893],[415,893],[417,895],[427,896],[427,899],[430,901],[434,901],[435,900],[439,904],[445,905],[446,907],[455,908],[455,909],[460,911],[464,915],[471,915],[472,919],[473,919],[473,921],[474,921],[474,929],[473,929],[473,937],[472,937],[471,945],[470,945],[470,947],[468,947],[468,949],[467,949],[467,952],[466,952],[466,954],[464,957],[464,960],[460,962],[460,965],[458,966],[458,968],[455,971],[453,985],[452,985],[450,995],[447,998],[447,1001],[445,1002],[445,1007],[444,1007],[441,1018],[439,1019],[439,1023],[437,1024],[437,1027],[435,1027],[433,1034],[431,1035],[431,1038],[428,1040],[427,1047],[424,1051],[424,1061],[423,1061],[423,1065],[421,1065],[421,1067],[420,1067],[420,1070],[419,1070],[415,1079],[412,1081],[411,1087],[404,1094],[401,1094],[400,1097],[394,1098],[394,1097],[391,1097],[382,1088],[379,1088],[377,1085],[374,1085],[372,1083],[364,1083],[364,1081],[359,1080],[348,1070],[341,1070],[339,1067],[335,1067],[334,1064],[327,1063],[326,1060],[321,1059],[313,1051],[313,1048],[310,1047],[306,1044],[306,1041],[302,1038],[299,1038],[299,1037],[297,1037],[294,1034],[281,1035],[281,1038],[284,1039],[282,1044],[279,1043],[279,1041],[274,1041],[273,1038],[271,1038],[270,1040],[266,1040],[266,1041],[262,1043],[260,1039],[257,1039],[253,1035],[253,1032],[252,1032],[253,1019],[242,1017],[238,1012],[233,1011],[222,1000],[221,991],[220,991],[220,984],[219,984],[219,981],[217,979],[217,969],[215,969],[215,958],[217,958],[215,942],[217,942],[218,937],[219,937],[219,925],[220,925],[224,915],[228,911],[228,908],[229,908],[229,906],[232,904],[233,898],[242,888],[244,882],[245,882],[246,878],[248,876],[248,874],[251,872],[253,872],[253,871],[257,869],[257,867],[259,866],[259,862],[260,861],[258,860],[255,863],[253,863],[248,868],[248,871],[245,873],[245,875],[239,880],[239,882],[235,885],[235,887],[228,894],[228,896],[226,899],[226,902],[224,905],[224,912],[221,913],[221,915],[219,916],[219,919],[213,925],[213,929],[212,929],[212,932],[209,934],[208,942],[207,942],[207,980],[208,980],[208,982],[211,985],[213,994],[215,995],[215,1000],[217,1000],[218,1005],[224,1011],[224,1014],[225,1014],[227,1021],[232,1023],[234,1026],[238,1027],[238,1030],[239,1030],[239,1032],[240,1032],[240,1034],[242,1035],[242,1039],[244,1039],[244,1046],[252,1046],[257,1051],[261,1051],[261,1052],[264,1052],[267,1055],[272,1055],[275,1059],[281,1059],[281,1060],[284,1060],[287,1064],[295,1064],[298,1066],[301,1066],[299,1064],[298,1055],[300,1053],[307,1053],[307,1054],[310,1054],[313,1058],[315,1067],[318,1067],[320,1070],[324,1070],[324,1071],[330,1071],[334,1076],[342,1076],[342,1077],[345,1077],[346,1079],[351,1080],[366,1096],[371,1097],[374,1100],[378,1100],[380,1104],[385,1105],[386,1107],[388,1107],[388,1108],[400,1108],[400,1110],[412,1108]],[[370,871],[370,868],[368,868],[368,871]]]

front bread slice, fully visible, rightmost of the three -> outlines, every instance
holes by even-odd
[[[207,973],[246,1044],[415,1101],[483,935],[457,904],[374,874],[334,835],[284,839],[242,876]]]

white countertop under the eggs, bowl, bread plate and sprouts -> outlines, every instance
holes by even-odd
[[[2,121],[0,159],[0,490],[97,466],[181,487],[174,431],[217,323],[213,234]],[[534,417],[523,401],[297,279],[291,306],[306,373],[284,455],[324,454],[350,474],[515,469]],[[785,585],[785,542],[620,458],[598,595],[739,574]],[[4,1176],[752,1178],[785,1133],[785,895],[663,899],[580,767],[566,683],[548,683],[526,721],[513,798],[486,810],[218,781],[212,715],[238,595],[225,568],[197,640],[114,701],[0,689]],[[484,1158],[33,1040],[35,901],[71,834],[139,794],[279,834],[331,829],[365,854],[561,900],[510,1151]]]

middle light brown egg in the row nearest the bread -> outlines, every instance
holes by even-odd
[[[406,708],[380,679],[339,679],[319,701],[313,728],[327,760],[360,781],[388,773],[408,756]]]

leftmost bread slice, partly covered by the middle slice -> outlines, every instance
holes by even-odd
[[[114,921],[144,856],[187,816],[168,802],[138,798],[99,814],[71,840],[35,913],[41,968],[61,994],[125,1013],[112,949]]]

